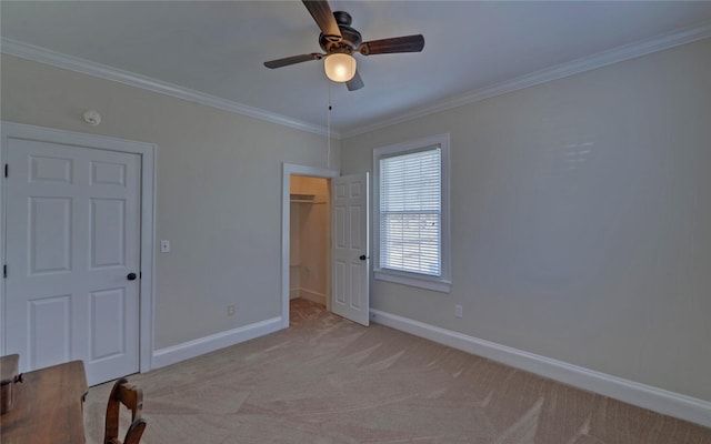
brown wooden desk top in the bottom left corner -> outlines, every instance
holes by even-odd
[[[87,375],[81,361],[24,373],[14,406],[0,416],[2,444],[83,444]]]

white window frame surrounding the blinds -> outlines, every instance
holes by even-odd
[[[441,275],[402,272],[380,266],[380,159],[427,151],[439,148],[441,154]],[[452,289],[451,280],[451,226],[450,226],[450,158],[449,134],[418,139],[394,145],[381,147],[373,150],[373,276],[380,281],[394,282],[449,293]]]

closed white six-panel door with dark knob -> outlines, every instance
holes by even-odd
[[[139,371],[140,155],[9,139],[6,351],[21,371]]]

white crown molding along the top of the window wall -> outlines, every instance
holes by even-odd
[[[371,125],[360,127],[352,131],[341,132],[341,137],[343,139],[352,138],[354,135],[380,130],[393,124],[403,123],[425,115],[434,114],[437,112],[447,111],[453,108],[479,102],[481,100],[489,99],[495,95],[505,94],[508,92],[513,92],[523,88],[562,79],[597,68],[602,68],[608,64],[634,59],[641,56],[650,54],[652,52],[662,51],[710,37],[711,22],[683,28],[681,30],[668,32],[650,39],[624,44],[608,51],[598,52],[589,57],[575,59],[570,62],[545,68],[543,70],[531,72],[529,74],[507,80],[501,83],[480,88],[469,93],[460,94],[455,98],[445,99],[430,105],[417,108],[411,112],[399,114],[393,119],[384,119]]]

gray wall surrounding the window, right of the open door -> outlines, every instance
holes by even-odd
[[[711,40],[350,138],[343,173],[447,132],[453,290],[371,307],[711,401]]]

